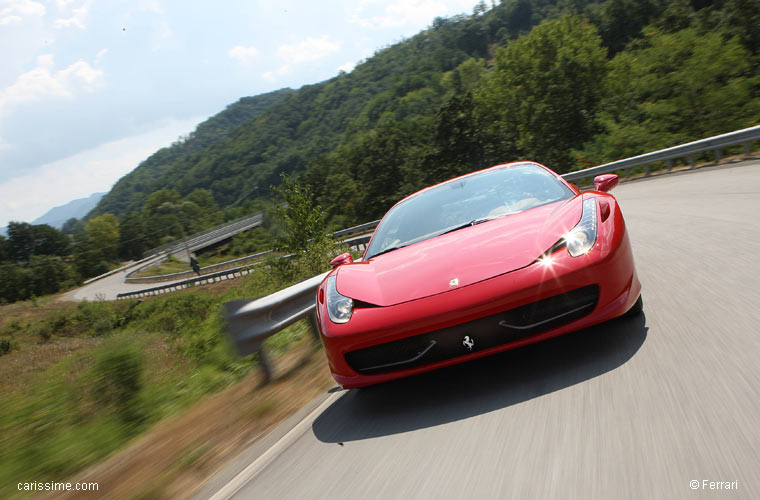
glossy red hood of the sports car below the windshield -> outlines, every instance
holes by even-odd
[[[340,266],[338,292],[390,306],[530,265],[581,218],[582,195]]]

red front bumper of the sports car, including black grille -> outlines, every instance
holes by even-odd
[[[616,243],[597,245],[577,258],[561,250],[551,263],[536,262],[430,297],[389,307],[357,308],[351,321],[342,325],[320,314],[322,340],[333,377],[345,388],[382,383],[620,316],[635,303],[641,286],[627,234],[624,232]],[[509,319],[515,310],[535,309],[530,304],[538,303],[540,309],[547,309],[551,297],[571,297],[590,289],[594,290],[593,304],[589,305],[588,294],[577,302],[565,301],[566,307],[559,306],[557,318],[551,312],[544,314],[543,318],[554,318],[553,321],[541,322],[539,318],[540,324],[535,324],[526,320],[522,326],[529,328],[522,328]],[[474,345],[469,346],[470,342]],[[419,353],[422,355],[412,359]]]

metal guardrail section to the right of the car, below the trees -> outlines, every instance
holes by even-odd
[[[598,167],[587,168],[585,170],[578,170],[576,172],[568,172],[562,174],[562,177],[567,181],[574,181],[578,179],[586,179],[588,177],[594,177],[601,174],[608,174],[616,172],[618,170],[628,170],[632,167],[646,166],[645,175],[649,174],[649,165],[658,161],[665,161],[666,168],[668,170],[673,168],[673,160],[676,158],[688,157],[691,167],[695,167],[695,156],[699,153],[713,152],[715,155],[715,161],[721,160],[721,149],[729,146],[744,146],[744,154],[749,155],[752,152],[752,142],[760,140],[760,125],[755,127],[749,127],[735,132],[729,132],[728,134],[716,135],[714,137],[708,137],[707,139],[700,139],[699,141],[688,142],[681,144],[680,146],[673,146],[671,148],[660,149],[659,151],[653,151],[643,155],[634,156],[631,158],[625,158],[624,160],[613,161],[612,163],[605,163]]]

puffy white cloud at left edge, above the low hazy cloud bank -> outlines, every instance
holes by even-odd
[[[8,109],[43,99],[72,99],[81,91],[93,92],[103,84],[104,73],[79,60],[53,71],[53,54],[37,57],[37,67],[22,73],[16,81],[0,90],[0,115]]]

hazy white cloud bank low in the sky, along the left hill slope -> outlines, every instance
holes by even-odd
[[[109,190],[141,161],[192,131],[201,120],[164,123],[150,132],[101,144],[0,183],[0,226],[11,220],[31,221],[54,206]]]

